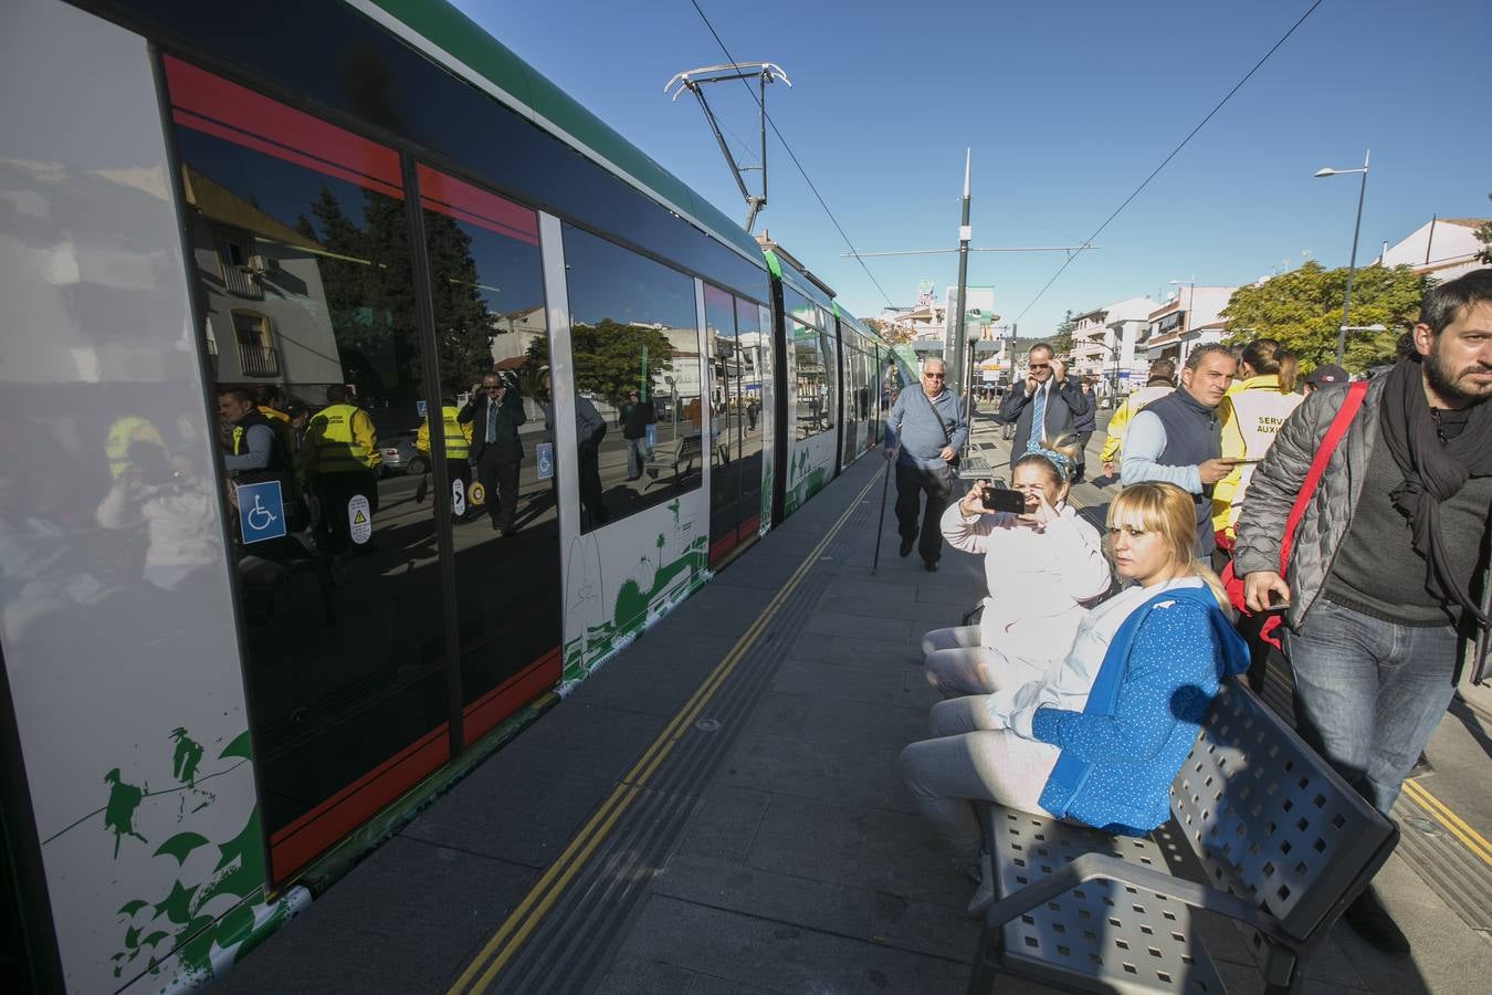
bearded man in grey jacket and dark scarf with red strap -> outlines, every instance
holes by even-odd
[[[1249,483],[1234,565],[1253,610],[1286,603],[1301,735],[1388,814],[1450,704],[1492,670],[1492,270],[1425,294],[1414,354],[1368,383],[1295,530],[1285,521],[1347,397],[1317,389]],[[1392,953],[1408,941],[1373,891],[1344,914]]]

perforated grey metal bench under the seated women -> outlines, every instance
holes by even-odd
[[[997,970],[1070,991],[1223,992],[1194,908],[1252,926],[1267,992],[1373,879],[1398,826],[1368,806],[1252,691],[1225,680],[1171,782],[1173,859],[1185,840],[1206,883],[1173,877],[1162,847],[986,806],[985,929],[970,979]],[[1170,832],[1167,831],[1170,829]]]

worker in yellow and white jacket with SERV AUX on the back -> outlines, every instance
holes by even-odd
[[[1232,549],[1234,525],[1243,510],[1253,470],[1274,445],[1291,412],[1306,400],[1295,392],[1295,357],[1274,339],[1255,339],[1238,358],[1241,379],[1217,404],[1222,422],[1222,458],[1238,465],[1213,488],[1213,533],[1219,549]]]

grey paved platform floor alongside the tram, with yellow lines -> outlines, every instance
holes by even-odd
[[[997,427],[980,421],[976,440],[1003,465]],[[958,622],[982,570],[952,550],[935,574],[900,559],[888,507],[870,573],[882,468],[871,453],[828,485],[219,988],[962,992],[971,885],[894,758],[937,700],[918,640]],[[1098,509],[1109,494],[1085,483],[1074,498]],[[1489,831],[1488,731],[1464,703],[1425,779],[1473,835]],[[1338,926],[1306,991],[1488,991],[1486,929],[1401,855],[1380,886],[1414,953],[1386,958]],[[1232,926],[1209,949],[1231,991],[1261,991]]]

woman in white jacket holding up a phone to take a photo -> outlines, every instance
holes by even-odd
[[[1050,448],[1016,461],[1010,486],[1025,495],[1024,515],[985,509],[983,482],[943,513],[949,544],[985,555],[989,586],[979,625],[922,637],[924,673],[944,697],[1041,680],[1071,649],[1082,603],[1109,591],[1103,537],[1067,504],[1068,465]]]

